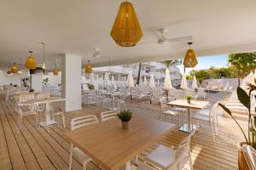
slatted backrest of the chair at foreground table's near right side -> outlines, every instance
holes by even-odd
[[[177,164],[177,169],[179,169],[180,164],[183,161],[188,160],[190,155],[190,140],[191,137],[195,134],[195,129],[193,129],[188,136],[186,136],[178,145],[175,154],[175,163]]]

